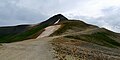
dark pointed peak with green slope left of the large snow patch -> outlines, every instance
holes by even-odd
[[[0,42],[9,43],[22,41],[26,39],[37,38],[44,31],[44,28],[54,25],[55,22],[59,20],[60,22],[67,21],[68,19],[61,14],[57,14],[48,20],[38,23],[34,26],[32,25],[18,25],[9,27],[0,27]]]

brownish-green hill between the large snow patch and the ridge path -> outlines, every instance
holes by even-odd
[[[62,26],[60,29],[55,31],[51,36],[62,35],[64,33],[73,33],[79,32],[87,29],[98,28],[97,26],[86,24],[79,20],[69,20],[67,22],[60,23]],[[71,32],[67,32],[68,30],[72,30]]]

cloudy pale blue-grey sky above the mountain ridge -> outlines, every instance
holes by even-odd
[[[0,0],[0,26],[39,23],[58,13],[120,32],[120,0]]]

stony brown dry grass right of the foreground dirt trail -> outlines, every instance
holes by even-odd
[[[77,40],[56,38],[51,43],[54,47],[56,58],[59,60],[115,60],[114,57],[99,51],[80,48],[82,43]]]

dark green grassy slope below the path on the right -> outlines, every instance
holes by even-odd
[[[69,35],[65,37],[83,40],[83,41],[95,43],[95,44],[106,46],[106,47],[112,47],[112,48],[120,47],[120,43],[110,38],[110,36],[113,36],[113,35],[106,34],[105,32],[96,32],[93,34]]]

